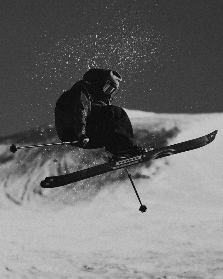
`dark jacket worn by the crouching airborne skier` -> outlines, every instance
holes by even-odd
[[[62,141],[75,141],[79,131],[85,132],[86,119],[93,106],[110,105],[102,100],[98,88],[86,80],[76,82],[64,92],[55,107],[55,126]]]

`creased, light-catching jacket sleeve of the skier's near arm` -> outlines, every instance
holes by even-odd
[[[73,128],[76,133],[79,131],[85,132],[86,119],[91,111],[91,96],[82,84],[76,84],[74,89]]]

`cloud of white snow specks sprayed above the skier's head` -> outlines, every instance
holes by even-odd
[[[48,49],[46,48],[39,54],[35,63],[40,70],[37,72],[35,69],[32,72],[31,78],[34,79],[35,86],[46,90],[46,85],[50,85],[48,83],[50,80],[51,88],[49,90],[52,91],[64,81],[69,82],[70,79],[74,79],[76,82],[82,79],[82,74],[87,69],[113,68],[112,65],[125,76],[123,82],[130,84],[137,71],[141,71],[142,68],[145,71],[156,71],[162,67],[163,59],[167,59],[167,57],[171,59],[173,42],[168,36],[159,34],[152,29],[149,31],[141,29],[140,25],[135,25],[134,29],[129,28],[125,18],[115,20],[118,21],[119,26],[122,26],[119,30],[123,32],[117,32],[117,24],[115,28],[109,27],[109,29],[106,25],[103,27],[102,24],[101,28],[97,29],[97,34],[88,33],[79,37],[65,36],[55,44],[49,40]],[[98,23],[96,24],[98,27]],[[154,53],[155,56],[148,55]],[[67,57],[69,57],[69,61]],[[81,62],[77,63],[77,61]],[[67,66],[69,62],[69,67],[66,67],[64,62]],[[65,92],[65,89],[63,91]],[[125,89],[123,89],[124,91]]]

